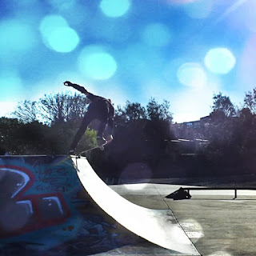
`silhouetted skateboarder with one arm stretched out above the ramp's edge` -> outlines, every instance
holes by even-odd
[[[98,119],[100,121],[97,132],[98,145],[111,142],[113,140],[112,133],[114,128],[114,106],[111,104],[110,99],[90,94],[90,92],[88,92],[84,87],[78,86],[70,81],[64,82],[64,86],[71,86],[74,89],[79,90],[82,94],[86,94],[86,97],[90,100],[90,105],[88,106],[85,117],[82,119],[81,126],[78,129],[77,134],[74,136],[73,142],[71,143],[70,154],[74,154],[74,151],[78,146],[78,142],[82,138],[82,134],[85,133],[90,122],[94,119]],[[104,138],[103,134],[106,130],[107,136]]]

